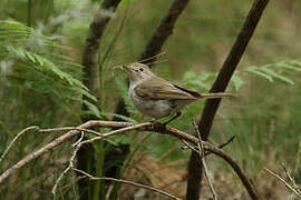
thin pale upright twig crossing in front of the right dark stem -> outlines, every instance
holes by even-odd
[[[198,146],[198,154],[200,154],[200,159],[201,159],[202,164],[203,164],[204,170],[205,170],[205,177],[206,177],[206,180],[208,182],[210,190],[212,192],[213,199],[214,200],[217,200],[217,194],[216,194],[216,192],[215,192],[215,190],[213,188],[212,181],[211,181],[211,179],[208,177],[208,169],[207,169],[207,164],[206,164],[206,161],[205,161],[204,143],[202,141],[201,133],[200,133],[200,130],[197,128],[197,124],[196,124],[196,121],[195,120],[193,121],[193,124],[194,124],[194,128],[195,128],[195,131],[196,131],[197,138],[198,138],[198,143],[197,143],[197,146]]]

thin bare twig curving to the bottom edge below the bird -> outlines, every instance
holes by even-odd
[[[114,181],[114,182],[120,182],[120,183],[125,183],[125,184],[129,184],[129,186],[134,186],[134,187],[138,187],[138,188],[144,188],[144,189],[147,189],[147,190],[151,190],[151,191],[154,191],[154,192],[157,192],[157,193],[161,193],[163,196],[166,196],[171,199],[176,199],[176,200],[179,200],[178,197],[175,197],[166,191],[163,191],[163,190],[159,190],[157,188],[153,188],[151,186],[146,186],[146,184],[140,184],[140,183],[137,183],[137,182],[133,182],[133,181],[128,181],[128,180],[123,180],[123,179],[114,179],[114,178],[108,178],[108,177],[93,177],[91,174],[82,171],[82,170],[79,170],[79,169],[72,169],[77,172],[80,172],[82,174],[85,174],[86,177],[88,177],[90,180],[107,180],[107,181]]]

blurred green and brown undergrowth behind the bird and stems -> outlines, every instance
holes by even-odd
[[[153,68],[155,73],[207,92],[252,2],[191,1],[163,48],[165,53]],[[29,126],[54,128],[81,123],[81,103],[85,103],[81,97],[95,97],[84,86],[78,87],[77,81],[82,81],[80,63],[86,36],[100,3],[99,0],[0,1],[1,153],[13,136]],[[127,98],[126,76],[113,67],[137,61],[171,3],[171,0],[123,0],[116,13],[108,13],[113,18],[99,49],[100,97],[96,98],[100,109],[90,106],[90,114],[105,120],[113,117],[132,122],[148,120],[133,108]],[[289,199],[290,192],[263,168],[284,177],[281,168],[284,163],[295,181],[301,181],[300,18],[299,0],[273,0],[268,4],[227,89],[237,98],[223,100],[210,138],[210,142],[220,144],[235,136],[225,150],[254,180],[264,199]],[[122,98],[130,117],[115,113]],[[192,121],[200,119],[203,106],[204,101],[191,104],[171,127],[193,132]],[[0,163],[1,171],[60,134],[27,133]],[[124,179],[185,197],[190,151],[182,150],[177,139],[130,132],[111,140],[111,148],[116,142],[125,143],[134,152],[123,169]],[[71,142],[10,177],[0,186],[0,198],[49,199],[55,180],[68,164]],[[249,198],[224,161],[211,156],[207,166],[216,193],[225,199]],[[75,178],[68,173],[64,179],[58,199],[77,197]],[[123,186],[118,193],[119,199],[133,199],[143,192]],[[210,194],[204,181],[202,199]],[[144,197],[162,199],[148,191]]]

